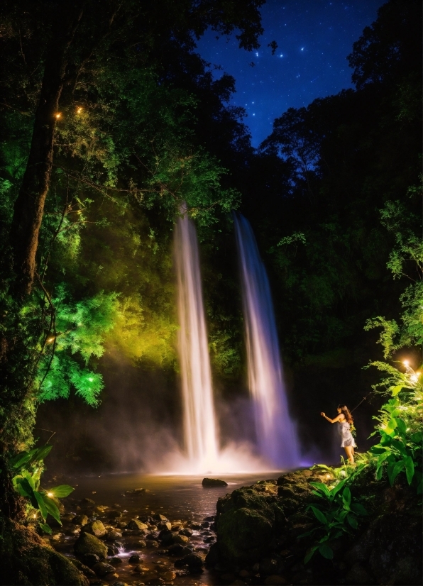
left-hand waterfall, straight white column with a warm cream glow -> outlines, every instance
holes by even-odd
[[[175,266],[185,450],[189,469],[207,472],[216,465],[219,449],[197,233],[186,214],[175,228]]]

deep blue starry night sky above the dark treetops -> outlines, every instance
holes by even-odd
[[[383,4],[384,0],[268,0],[261,8],[261,46],[252,52],[239,49],[235,35],[217,40],[216,33],[205,33],[197,43],[198,52],[216,78],[224,72],[235,77],[231,103],[246,109],[244,121],[254,147],[288,108],[353,87],[346,56]],[[273,40],[278,43],[275,55],[267,46]]]

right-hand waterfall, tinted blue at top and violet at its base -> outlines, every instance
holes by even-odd
[[[292,468],[300,464],[300,449],[287,406],[268,275],[250,223],[241,214],[234,221],[258,447],[273,465]]]

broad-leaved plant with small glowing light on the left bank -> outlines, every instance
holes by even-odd
[[[48,490],[40,487],[40,477],[43,473],[43,460],[50,453],[53,446],[43,446],[30,451],[18,453],[9,460],[11,470],[18,472],[13,476],[12,482],[16,492],[21,497],[26,497],[33,509],[38,510],[43,523],[38,522],[45,533],[51,534],[52,530],[46,523],[50,514],[60,525],[60,511],[57,507],[58,499],[67,497],[75,488],[69,485],[59,485]],[[28,468],[33,465],[32,470]]]

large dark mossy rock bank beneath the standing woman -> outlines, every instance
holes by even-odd
[[[331,541],[333,559],[304,556],[314,537],[298,539],[316,526],[309,504],[319,501],[310,482],[328,487],[336,479],[323,468],[299,470],[260,481],[219,499],[217,541],[207,564],[221,584],[421,585],[422,496],[400,477],[393,487],[363,470],[351,493],[368,511],[351,535]]]

